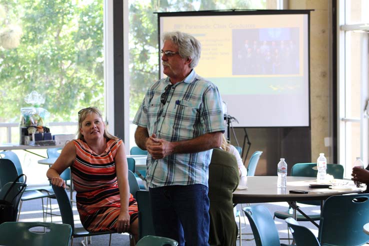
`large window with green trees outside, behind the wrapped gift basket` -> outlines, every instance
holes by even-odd
[[[105,111],[103,4],[1,1],[0,142],[19,142],[20,108],[33,106],[24,101],[32,90],[45,97],[53,134],[74,133],[80,108]]]

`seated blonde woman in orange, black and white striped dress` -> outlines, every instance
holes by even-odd
[[[65,187],[59,174],[70,166],[83,227],[91,232],[129,232],[137,241],[138,210],[129,193],[123,141],[107,132],[96,107],[78,112],[78,127],[77,139],[64,146],[47,177]]]

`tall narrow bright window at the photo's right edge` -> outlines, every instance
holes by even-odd
[[[369,2],[339,0],[338,7],[338,163],[349,177],[356,156],[368,162]]]

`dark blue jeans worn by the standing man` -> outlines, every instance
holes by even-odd
[[[205,185],[170,185],[149,191],[157,236],[172,238],[179,246],[209,245],[209,198]]]

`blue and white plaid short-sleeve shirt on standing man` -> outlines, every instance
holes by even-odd
[[[224,118],[218,88],[198,76],[194,69],[169,89],[165,104],[160,96],[170,84],[169,78],[157,80],[147,90],[133,123],[145,127],[148,134],[167,141],[188,140],[205,133],[223,131]],[[212,150],[175,153],[162,159],[147,155],[149,187],[188,185],[207,186]]]

